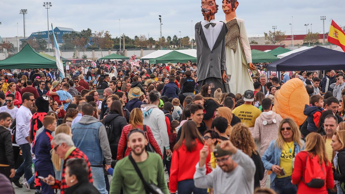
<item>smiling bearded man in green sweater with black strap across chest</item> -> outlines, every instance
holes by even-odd
[[[140,129],[132,129],[127,137],[127,146],[132,152],[128,157],[116,163],[110,185],[110,194],[120,194],[121,187],[124,193],[145,193],[144,184],[139,178],[131,160],[134,160],[142,177],[148,184],[157,185],[163,193],[169,194],[164,177],[162,159],[156,153],[146,152],[145,147],[148,142],[144,132]]]

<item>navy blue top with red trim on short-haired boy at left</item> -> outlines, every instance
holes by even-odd
[[[52,146],[50,141],[53,139],[51,131],[43,129],[43,132],[38,134],[35,143],[32,146],[32,152],[36,156],[35,169],[36,170],[53,170],[53,164],[51,162],[50,151]]]

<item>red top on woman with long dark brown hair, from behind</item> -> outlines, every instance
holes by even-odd
[[[170,193],[176,193],[177,182],[184,180],[193,180],[195,173],[195,166],[199,162],[200,150],[204,147],[203,143],[200,143],[196,139],[196,149],[193,152],[188,152],[185,146],[185,140],[183,145],[178,149],[175,149],[172,153],[171,167],[170,167],[170,178],[169,178],[169,189]],[[210,162],[211,154],[208,149],[208,156],[206,158],[206,174],[211,172],[208,167]]]

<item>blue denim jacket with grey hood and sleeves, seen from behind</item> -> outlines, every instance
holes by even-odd
[[[106,164],[111,164],[111,152],[104,125],[92,116],[83,115],[72,126],[72,139],[76,147],[86,154],[91,166],[102,166],[103,156]]]

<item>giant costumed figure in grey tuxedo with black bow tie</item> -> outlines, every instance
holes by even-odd
[[[197,82],[200,88],[209,84],[211,93],[220,88],[229,92],[225,66],[225,35],[228,31],[222,21],[215,20],[218,5],[215,0],[201,0],[204,21],[195,25],[197,44]]]

